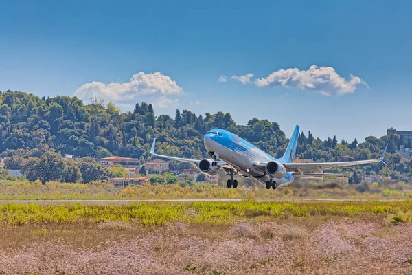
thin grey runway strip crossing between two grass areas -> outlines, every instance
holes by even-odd
[[[367,202],[367,201],[380,201],[380,202],[396,202],[407,201],[408,199],[257,199],[258,202],[315,202],[315,201],[350,201],[350,202]],[[205,202],[241,202],[244,199],[124,199],[124,200],[38,200],[38,201],[19,201],[19,200],[5,200],[0,201],[3,203],[16,203],[16,204],[67,204],[67,203],[82,203],[87,205],[110,205],[110,204],[131,204],[131,203],[157,203],[157,202],[171,202],[171,203],[194,203],[199,201]]]

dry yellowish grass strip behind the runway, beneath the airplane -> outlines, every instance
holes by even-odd
[[[299,199],[299,198],[396,198],[412,199],[410,184],[347,184],[341,179],[332,181],[293,182],[286,188],[266,190],[263,185],[237,189],[198,184],[181,187],[177,184],[143,184],[125,188],[113,184],[62,184],[60,182],[29,183],[0,180],[0,200],[43,199]]]

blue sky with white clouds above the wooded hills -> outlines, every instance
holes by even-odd
[[[295,124],[339,140],[412,129],[410,1],[84,2],[0,3],[0,90],[229,111],[286,135]]]

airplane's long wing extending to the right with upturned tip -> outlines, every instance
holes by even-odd
[[[375,162],[382,162],[385,164],[383,159],[385,158],[385,154],[387,151],[388,145],[385,147],[385,151],[383,151],[382,157],[380,159],[367,159],[367,160],[356,160],[354,162],[313,162],[313,163],[284,163],[283,165],[288,172],[297,172],[302,175],[306,171],[317,170],[319,173],[323,173],[323,170],[327,170],[334,167],[341,167],[341,166],[353,166],[359,164],[370,164]],[[387,166],[387,164],[385,164]]]

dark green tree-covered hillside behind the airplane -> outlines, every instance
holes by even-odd
[[[284,153],[288,141],[279,124],[266,119],[252,118],[244,126],[236,124],[230,113],[203,116],[178,109],[176,116],[171,118],[155,113],[152,105],[146,102],[137,103],[128,113],[122,113],[111,102],[99,98],[93,98],[91,103],[85,105],[82,100],[70,96],[39,98],[21,91],[1,92],[1,157],[14,156],[15,166],[19,166],[22,159],[40,158],[47,151],[93,158],[120,155],[144,161],[150,143],[157,137],[158,153],[199,158],[206,156],[203,135],[211,128],[236,133],[275,157]],[[299,135],[297,155],[317,162],[336,161],[340,156],[368,159],[380,157],[386,143],[389,143],[389,150],[394,151],[403,142],[398,135],[366,137],[365,140],[359,144],[357,140],[339,141],[336,137],[320,140],[309,131]],[[412,159],[401,159],[400,155],[389,153],[386,161],[392,169],[385,168],[384,174],[393,179],[408,179]],[[179,170],[185,165],[172,163],[172,169]],[[353,173],[353,168],[347,169]],[[359,169],[360,173],[369,175],[372,171],[380,172],[382,166],[371,164]]]

